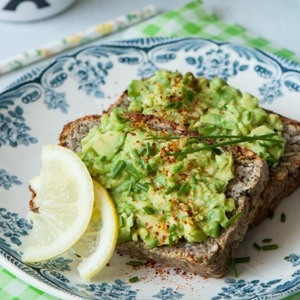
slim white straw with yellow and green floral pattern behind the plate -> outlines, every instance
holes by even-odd
[[[58,41],[46,44],[39,49],[27,51],[23,54],[10,57],[0,61],[0,75],[21,69],[42,59],[52,57],[68,49],[90,43],[100,37],[112,34],[125,29],[138,22],[146,20],[157,14],[153,5],[147,6],[141,10],[132,11],[127,15],[117,17],[116,19],[100,23],[85,31],[67,36]]]

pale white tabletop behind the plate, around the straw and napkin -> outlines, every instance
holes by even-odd
[[[69,10],[48,20],[22,24],[0,22],[0,60],[150,3],[159,11],[166,11],[187,2],[189,0],[78,0]],[[204,5],[222,20],[239,23],[300,57],[300,0],[204,0]],[[102,41],[120,37],[118,33]],[[0,91],[26,70],[28,68],[1,76]]]

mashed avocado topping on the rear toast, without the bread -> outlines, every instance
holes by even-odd
[[[255,136],[277,133],[283,141],[279,117],[259,107],[254,96],[241,93],[219,78],[211,81],[192,73],[157,71],[147,80],[133,80],[128,87],[129,111],[154,114],[208,135]],[[284,152],[284,141],[245,142],[244,146],[276,166]]]

